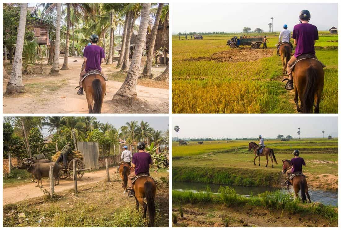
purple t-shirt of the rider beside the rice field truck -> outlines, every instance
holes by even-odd
[[[315,54],[314,41],[318,40],[317,27],[309,23],[301,23],[294,26],[293,39],[297,40],[295,57],[306,53]]]

